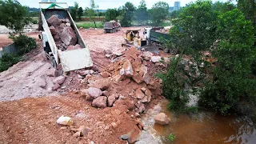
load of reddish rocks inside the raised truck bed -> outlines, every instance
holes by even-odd
[[[70,20],[59,19],[58,16],[53,15],[47,19],[48,25],[50,26],[50,32],[53,35],[56,46],[59,50],[74,50],[80,49],[77,43],[78,38],[74,33],[70,25]]]

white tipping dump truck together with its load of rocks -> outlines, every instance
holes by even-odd
[[[42,42],[52,65],[66,72],[93,66],[90,50],[79,34],[65,2],[39,2]]]

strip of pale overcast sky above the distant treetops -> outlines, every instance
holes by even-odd
[[[41,2],[42,0],[18,0],[22,5],[24,6],[30,6],[30,7],[39,7],[38,2]],[[83,9],[85,9],[86,6],[90,6],[90,0],[56,0],[57,2],[67,2],[68,6],[73,6],[74,2],[78,2],[79,6],[82,6]],[[145,0],[146,6],[148,8],[151,8],[154,3],[158,2],[159,0]],[[174,6],[174,2],[177,0],[161,0],[162,2],[167,2],[169,6]],[[181,6],[185,6],[186,3],[194,2],[195,0],[178,0],[181,2]],[[213,0],[216,2],[217,0]],[[227,2],[227,0],[220,0],[221,2]],[[100,10],[106,10],[108,8],[118,8],[119,6],[123,6],[126,2],[132,2],[134,6],[138,6],[140,0],[94,0],[94,2],[99,6]]]

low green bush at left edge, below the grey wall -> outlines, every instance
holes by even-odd
[[[4,70],[8,70],[10,66],[13,66],[17,62],[21,60],[21,56],[14,54],[4,54],[2,58],[0,58],[0,72]]]

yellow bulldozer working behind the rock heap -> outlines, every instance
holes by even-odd
[[[135,46],[140,48],[146,46],[146,39],[140,38],[139,36],[140,29],[130,29],[126,30],[125,42],[122,43],[122,46],[131,47]]]

